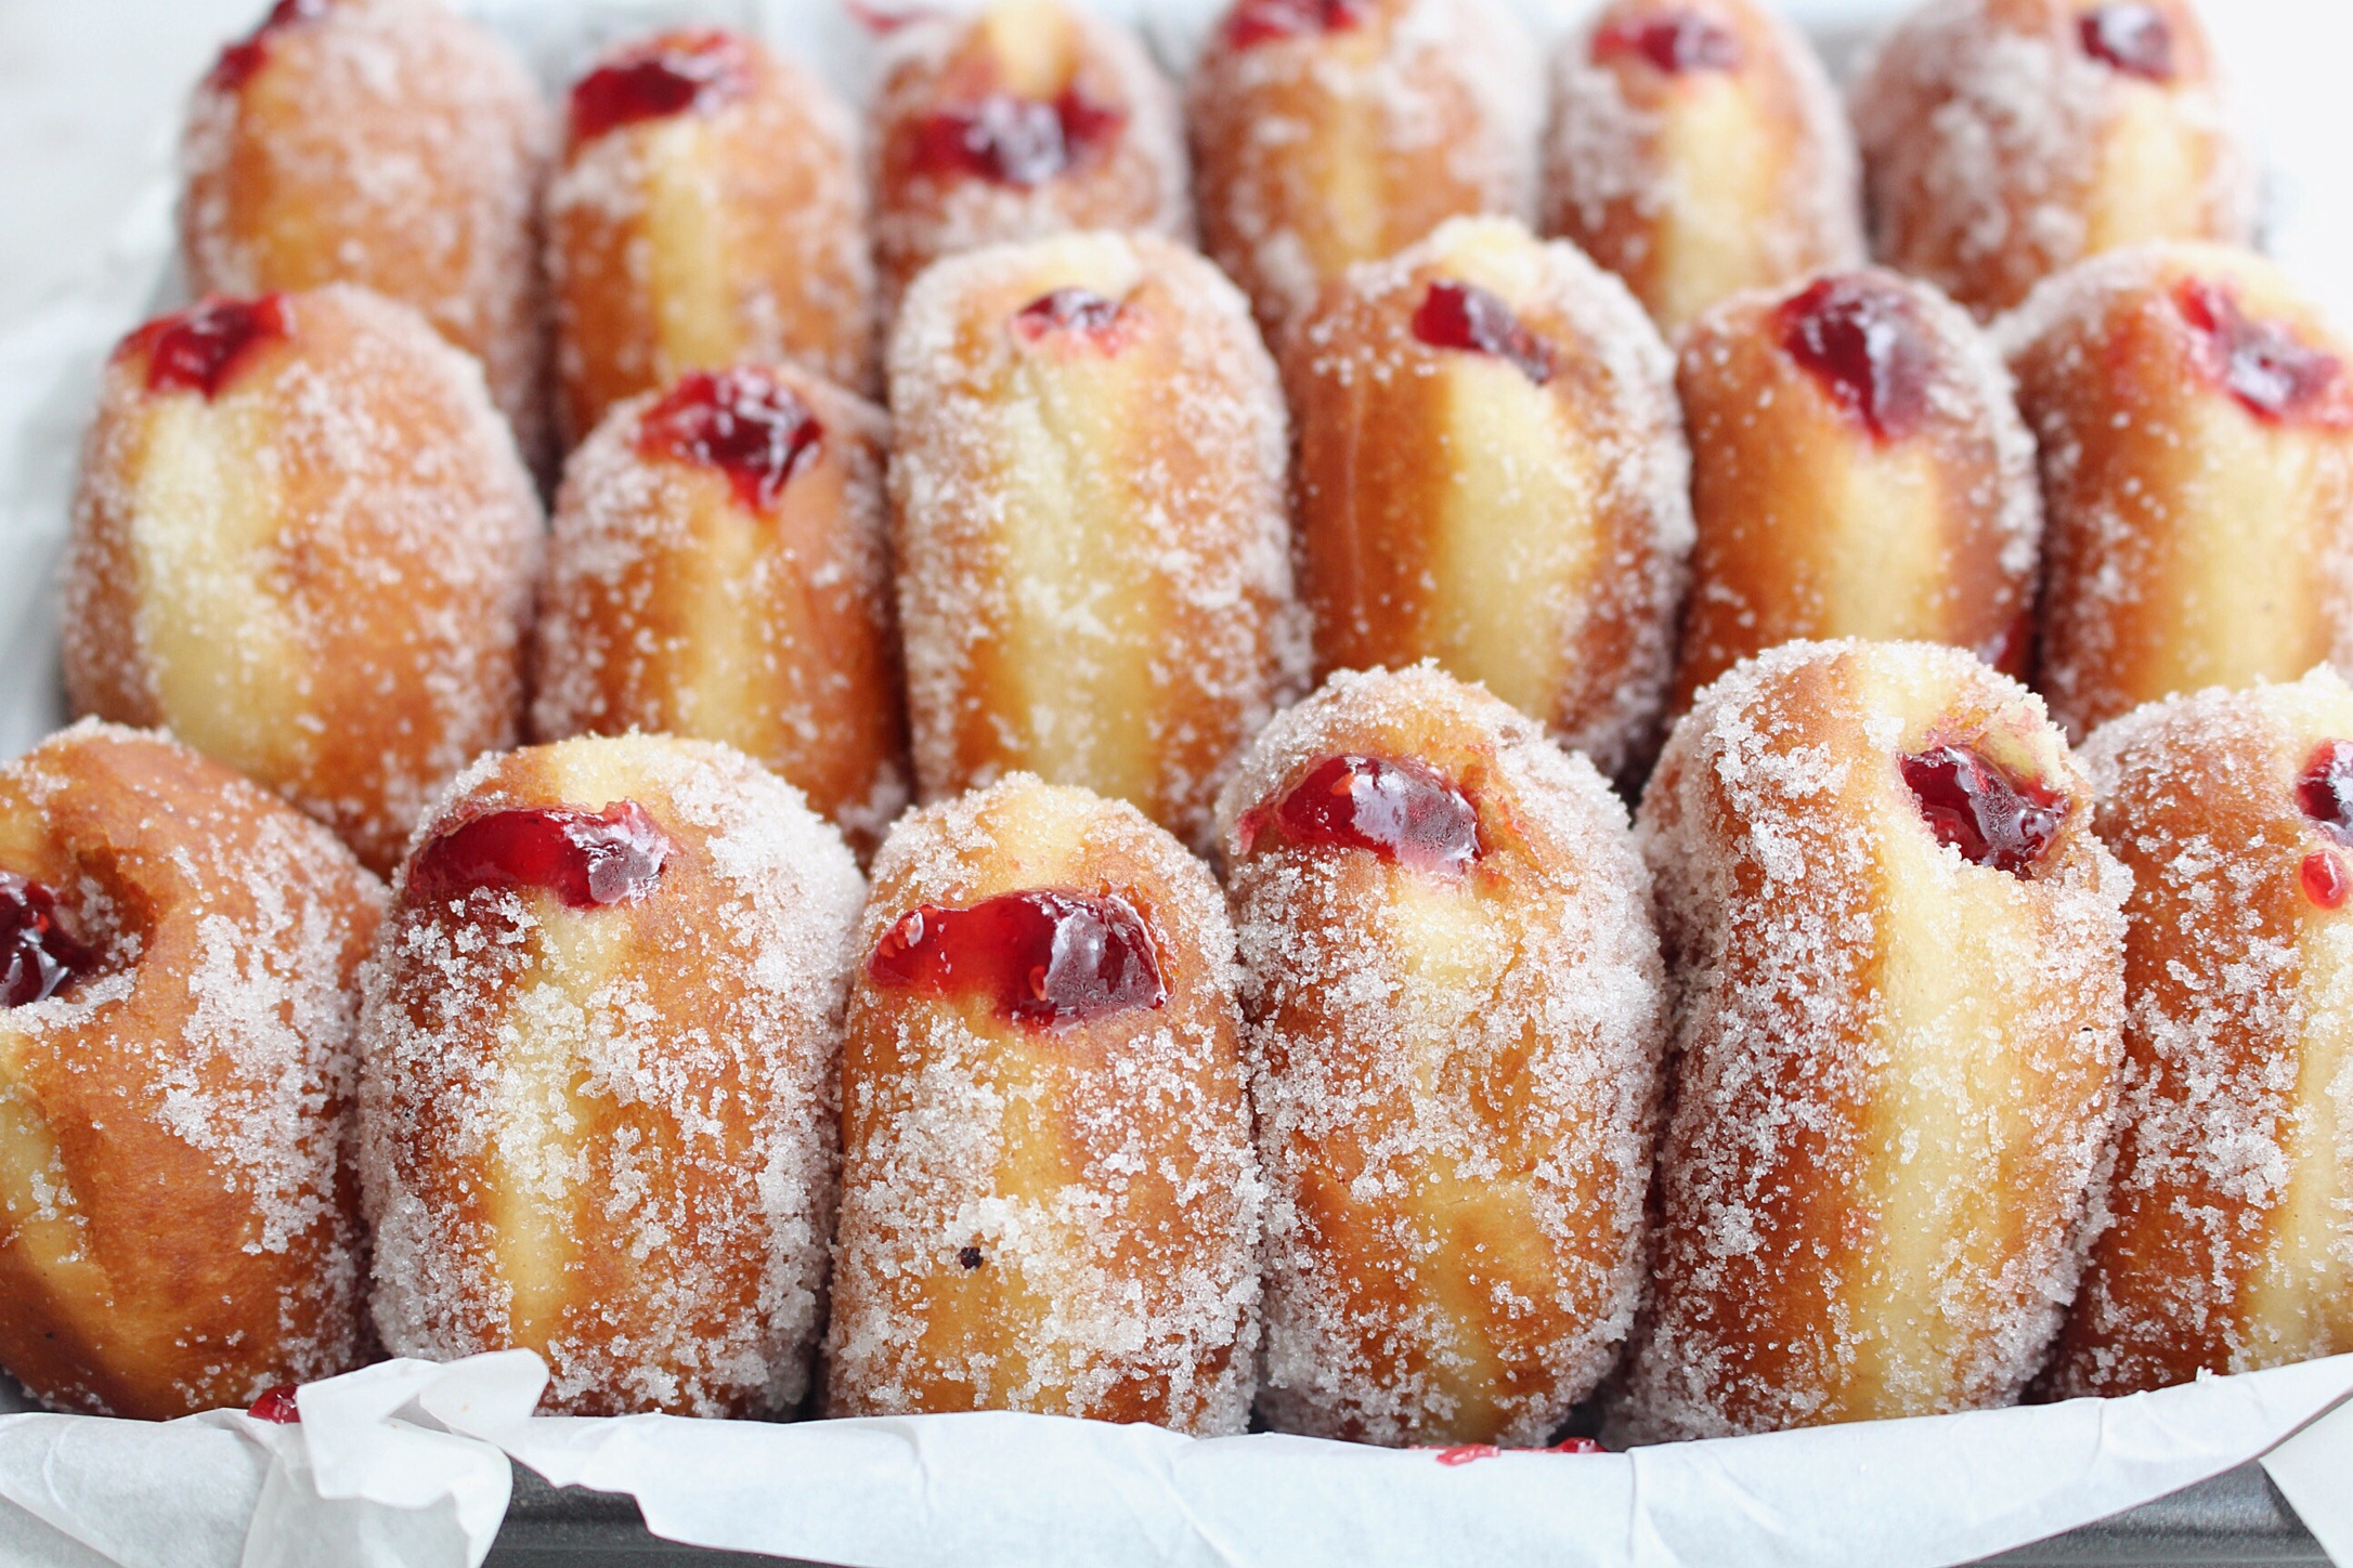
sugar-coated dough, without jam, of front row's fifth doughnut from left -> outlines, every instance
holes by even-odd
[[[2054,802],[2017,872],[1906,759]],[[2017,1401],[2097,1227],[2132,877],[2042,703],[1972,654],[1795,642],[1675,726],[1642,802],[1675,990],[1626,1441]],[[1965,835],[1958,835],[1965,837]]]

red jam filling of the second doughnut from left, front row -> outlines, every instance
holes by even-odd
[[[489,811],[424,846],[409,865],[409,896],[438,903],[473,889],[534,889],[591,910],[645,898],[668,858],[668,835],[633,799],[602,811]]]

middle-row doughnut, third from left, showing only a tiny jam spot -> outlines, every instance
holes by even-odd
[[[889,402],[925,797],[1033,771],[1205,846],[1306,654],[1242,296],[1151,235],[967,252],[908,292]]]

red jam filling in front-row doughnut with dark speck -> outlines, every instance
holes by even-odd
[[[1169,999],[1153,933],[1118,893],[1002,893],[899,917],[866,978],[878,990],[986,997],[1014,1023],[1089,1023]]]

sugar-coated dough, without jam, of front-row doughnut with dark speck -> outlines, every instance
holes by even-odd
[[[1233,929],[1207,867],[1132,806],[1012,776],[901,818],[873,870],[861,954],[920,938],[918,910],[1115,898],[1148,933],[1165,999],[1129,987],[1115,1011],[1031,1023],[953,983],[859,971],[828,1413],[1240,1432],[1261,1185]],[[1056,933],[1033,985],[1059,983],[1080,933]]]

